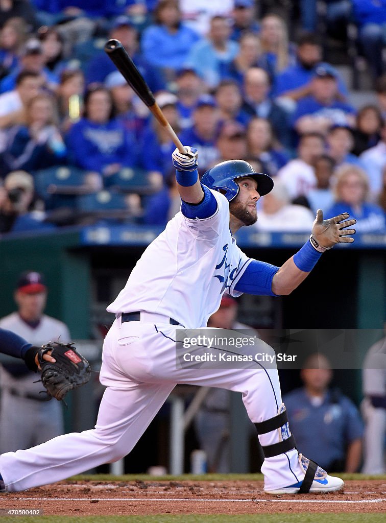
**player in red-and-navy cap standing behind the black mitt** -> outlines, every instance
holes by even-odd
[[[18,333],[35,346],[49,340],[70,342],[67,326],[43,314],[47,292],[39,272],[23,272],[14,294],[18,310],[0,319],[0,327]],[[36,377],[21,362],[0,365],[0,452],[25,449],[63,434],[62,405],[47,403],[47,395],[40,393],[41,383],[35,382]]]

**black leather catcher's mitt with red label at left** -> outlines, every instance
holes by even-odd
[[[49,351],[52,351],[51,356],[56,360],[54,363],[43,359]],[[38,361],[41,381],[47,394],[56,400],[63,400],[67,392],[77,389],[90,379],[90,364],[72,343],[49,342],[42,345],[38,350]]]

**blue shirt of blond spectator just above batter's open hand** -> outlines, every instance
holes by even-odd
[[[343,212],[348,212],[350,218],[357,220],[354,225],[357,232],[386,232],[385,213],[375,203],[365,202],[362,203],[360,209],[354,209],[343,201],[337,201],[330,209],[327,209],[325,216],[333,217]]]

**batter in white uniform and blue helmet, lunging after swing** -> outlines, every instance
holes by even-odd
[[[270,494],[331,492],[343,487],[298,453],[281,401],[277,369],[177,369],[176,330],[205,327],[228,292],[289,294],[322,253],[351,243],[356,223],[348,213],[323,220],[317,211],[310,240],[281,267],[248,258],[233,234],[257,220],[256,202],[274,185],[241,160],[220,163],[202,178],[197,150],[173,155],[181,210],[146,248],[108,311],[116,319],[103,347],[100,382],[107,386],[93,430],[66,434],[0,457],[4,488],[16,492],[63,480],[134,447],[177,383],[243,393],[256,425]]]

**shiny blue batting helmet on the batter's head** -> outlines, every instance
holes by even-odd
[[[274,187],[274,180],[270,176],[256,173],[252,165],[244,160],[227,160],[215,165],[202,176],[201,182],[215,191],[223,190],[225,198],[232,201],[240,191],[235,179],[247,176],[257,181],[257,191],[260,196],[268,194]]]

